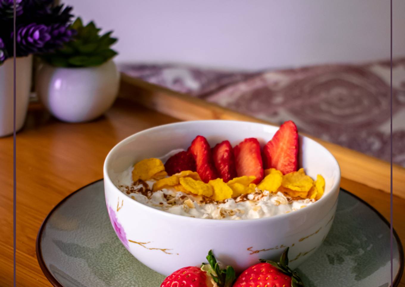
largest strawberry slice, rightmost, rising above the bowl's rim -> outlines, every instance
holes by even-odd
[[[263,149],[265,168],[275,168],[283,174],[298,167],[298,131],[293,121],[286,121]]]

